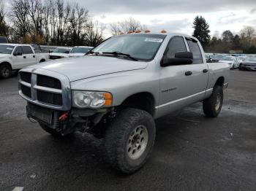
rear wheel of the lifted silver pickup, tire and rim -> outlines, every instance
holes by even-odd
[[[219,102],[218,102],[219,100]],[[222,110],[223,104],[223,87],[220,85],[214,86],[214,90],[210,96],[203,101],[203,112],[207,117],[217,117]]]

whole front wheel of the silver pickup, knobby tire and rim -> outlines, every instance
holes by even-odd
[[[140,109],[124,109],[105,134],[105,149],[113,168],[132,174],[148,159],[155,139],[153,117]]]

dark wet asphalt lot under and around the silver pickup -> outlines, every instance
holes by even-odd
[[[230,72],[217,119],[197,103],[157,120],[153,155],[130,176],[105,163],[102,140],[29,122],[17,89],[0,79],[0,190],[255,190],[256,72]]]

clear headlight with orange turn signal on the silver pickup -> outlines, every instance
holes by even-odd
[[[78,108],[99,108],[112,105],[111,93],[72,91],[73,106]]]

